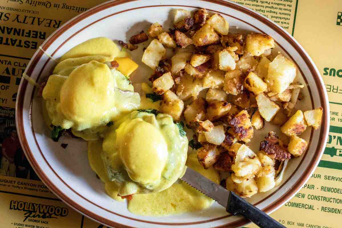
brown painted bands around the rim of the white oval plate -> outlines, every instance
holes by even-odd
[[[119,1],[115,1],[115,2],[108,2],[108,3],[104,3],[102,5],[99,5],[99,6],[95,6],[95,8],[92,8],[90,9],[89,11],[85,12],[85,13],[82,13],[80,14],[79,16],[71,19],[69,22],[67,22],[66,24],[64,24],[64,26],[62,26],[60,29],[56,30],[56,32],[54,32],[48,39],[46,42],[44,42],[42,48],[44,50],[47,50],[47,48],[49,48],[49,46],[60,36],[62,35],[62,33],[67,30],[68,28],[70,28],[71,26],[73,26],[74,24],[82,21],[84,18],[90,16],[90,15],[93,15],[94,13],[97,13],[101,10],[104,10],[104,9],[107,9],[109,7],[112,7],[112,6],[115,6],[115,5],[119,5],[119,4],[123,4],[123,3],[127,3],[127,2],[131,2],[131,1],[136,1],[136,0],[119,0]],[[293,40],[293,38],[291,36],[288,35],[288,33],[286,33],[284,30],[282,30],[281,28],[279,28],[276,24],[274,24],[273,22],[269,21],[268,19],[262,17],[261,15],[259,15],[258,13],[255,13],[254,11],[251,11],[249,9],[245,9],[235,3],[231,3],[231,2],[225,2],[225,1],[221,1],[221,0],[209,0],[210,2],[213,2],[213,3],[216,3],[216,4],[221,4],[223,6],[227,6],[229,8],[232,8],[232,9],[235,9],[235,10],[238,10],[242,13],[245,13],[245,14],[248,14],[249,16],[252,16],[256,19],[258,19],[259,21],[263,22],[264,24],[268,25],[269,27],[271,27],[273,30],[275,30],[278,34],[280,34],[282,37],[284,37],[287,42],[289,42],[292,47],[300,54],[300,56],[304,59],[304,62],[305,64],[309,67],[312,75],[314,76],[314,80],[316,82],[316,84],[320,85],[320,80],[319,80],[319,73],[315,70],[315,67],[314,65],[311,63],[310,59],[306,56],[306,54],[304,53],[304,51],[301,49],[301,47]],[[56,53],[56,51],[58,51],[59,48],[61,48],[61,46],[63,46],[69,39],[71,39],[72,37],[74,37],[77,33],[79,33],[80,31],[82,31],[83,29],[87,28],[88,26],[98,22],[98,21],[101,21],[102,19],[104,18],[107,18],[107,17],[110,17],[110,16],[113,16],[115,14],[119,14],[119,13],[122,13],[122,12],[126,12],[126,11],[130,11],[130,10],[135,10],[135,9],[140,9],[140,8],[149,8],[149,7],[161,7],[161,6],[176,6],[176,7],[192,7],[192,8],[199,8],[199,7],[194,7],[194,6],[187,6],[187,5],[151,5],[151,6],[142,6],[142,7],[138,7],[138,8],[132,8],[132,9],[128,9],[128,10],[124,10],[124,11],[121,11],[121,12],[117,12],[117,13],[114,13],[114,14],[111,14],[111,15],[108,15],[108,16],[105,16],[103,18],[100,18],[98,19],[97,21],[83,27],[82,29],[80,29],[79,31],[75,32],[73,35],[71,35],[67,40],[65,40],[52,54],[52,56]],[[212,12],[218,12],[218,13],[221,13],[221,14],[225,14],[225,13],[222,13],[222,12],[219,12],[219,11],[215,11],[215,10],[210,10],[208,9],[209,11],[212,11]],[[225,15],[228,15],[228,14],[225,14]],[[231,15],[228,15],[228,16],[231,16]],[[231,16],[233,17],[233,16]],[[235,19],[238,19],[240,21],[242,21],[241,19],[239,18],[236,18],[234,17]],[[243,21],[245,22],[245,21]],[[245,22],[247,24],[249,24],[248,22]],[[251,24],[249,24],[251,25]],[[251,25],[253,26],[253,25]],[[255,26],[253,26],[254,28],[256,28]],[[256,28],[258,29],[258,28]],[[259,31],[261,31],[260,29],[258,29]],[[263,32],[263,31],[261,31]],[[263,32],[264,33],[264,32]],[[280,48],[286,52],[288,55],[289,53],[284,49],[282,48],[281,45],[279,45]],[[36,52],[36,55],[34,56],[33,59],[31,59],[30,61],[30,64],[29,66],[27,67],[26,71],[27,71],[27,74],[28,75],[31,75],[33,69],[35,68],[36,64],[38,63],[40,57],[43,55],[43,52],[41,50],[38,50]],[[290,56],[290,55],[289,55]],[[291,57],[291,56],[290,56]],[[291,57],[292,61],[295,63],[295,61],[293,60],[293,58]],[[37,78],[37,81],[39,80],[39,77],[41,76],[41,73],[43,71],[43,69],[45,68],[45,66],[48,64],[49,62],[49,59],[48,61],[45,62],[44,66],[42,67],[40,73],[39,73],[39,76]],[[297,65],[297,64],[296,64]],[[298,67],[298,69],[300,70],[305,82],[307,83],[307,80],[302,72],[302,70]],[[38,166],[38,163],[37,161],[34,159],[33,155],[32,155],[32,152],[29,148],[29,145],[28,145],[28,142],[27,142],[27,139],[25,137],[25,132],[24,132],[24,128],[23,128],[23,106],[24,106],[24,98],[23,98],[23,95],[21,95],[22,93],[25,93],[26,91],[26,87],[27,87],[27,84],[28,82],[26,80],[23,81],[22,85],[21,85],[21,93],[19,94],[18,96],[18,100],[17,100],[17,104],[16,104],[16,120],[17,120],[17,129],[18,129],[18,134],[19,134],[19,138],[21,140],[21,144],[24,148],[24,151],[25,151],[25,154],[26,156],[28,157],[29,161],[34,164],[33,166],[35,167],[35,171],[37,172],[37,174],[41,177],[42,181],[44,182],[45,185],[47,185],[58,197],[60,197],[65,203],[67,203],[68,205],[70,205],[71,207],[73,207],[75,210],[83,213],[83,214],[86,214],[87,216],[90,216],[91,218],[103,223],[103,224],[106,224],[106,225],[109,225],[109,226],[115,226],[115,227],[129,227],[129,226],[125,226],[125,225],[122,225],[122,224],[118,224],[118,223],[114,223],[113,221],[110,221],[106,218],[103,218],[99,215],[96,215],[94,214],[93,212],[90,212],[88,211],[87,209],[83,208],[81,205],[77,204],[76,202],[74,202],[72,199],[70,199],[69,197],[67,197],[63,192],[61,192],[50,180],[49,178],[44,174],[43,170],[40,169],[40,167]],[[320,103],[323,104],[323,109],[324,109],[324,117],[323,117],[323,120],[322,120],[322,126],[326,126],[327,125],[327,122],[328,122],[328,113],[327,113],[327,102],[326,100],[324,99],[324,88],[323,86],[318,86],[318,92],[320,94]],[[311,91],[310,91],[310,88],[308,87],[308,90],[310,92],[310,95],[311,95]],[[34,97],[34,92],[35,92],[35,89],[32,91],[32,96],[31,96],[31,101],[30,101],[30,111],[29,111],[29,117],[30,117],[30,124],[31,124],[31,130],[32,130],[32,133],[34,135],[34,138],[35,138],[35,141],[36,141],[36,144],[37,144],[37,140],[36,140],[36,137],[35,137],[35,133],[34,133],[34,129],[33,129],[33,125],[32,125],[32,119],[31,119],[31,110],[32,110],[32,101],[33,101],[33,97]],[[21,95],[21,96],[20,96]],[[311,95],[311,100],[312,100],[312,106],[314,107],[314,102],[313,102],[313,98],[312,98],[312,95]],[[320,135],[326,135],[328,132],[328,128],[321,128],[321,131],[320,131]],[[311,138],[313,136],[313,131],[311,131],[311,136],[310,136],[310,143],[308,145],[308,148],[310,148],[310,144],[311,144]],[[323,140],[324,141],[324,140]],[[278,206],[280,206],[281,204],[285,203],[287,200],[289,200],[289,198],[295,193],[297,192],[297,190],[300,189],[300,187],[306,182],[306,180],[308,179],[308,177],[310,177],[310,174],[311,172],[313,171],[313,169],[315,168],[316,166],[316,163],[317,161],[319,160],[319,158],[321,157],[321,154],[323,152],[323,149],[324,149],[324,142],[320,141],[319,142],[319,145],[317,147],[317,150],[316,150],[316,156],[313,157],[313,159],[311,160],[310,164],[311,166],[308,167],[308,169],[305,170],[305,172],[303,173],[301,179],[299,179],[297,181],[297,183],[294,184],[294,186],[297,186],[297,187],[294,187],[294,188],[291,188],[289,191],[287,191],[280,199],[277,200],[277,202],[267,206],[266,208],[264,208],[263,210],[266,212],[266,213],[269,213],[271,211],[273,211],[274,209],[276,209]],[[39,145],[37,144],[38,148],[39,148]],[[44,158],[45,162],[46,159],[43,155],[43,153],[40,151],[42,157]],[[307,153],[305,153],[304,157],[302,158],[302,161],[305,159],[305,156],[306,156]],[[299,166],[301,165],[302,161],[300,162],[300,164],[298,165],[297,169],[293,172],[293,174],[288,178],[288,180],[294,175],[295,172],[297,172]],[[50,164],[47,162],[47,164],[49,165],[50,169],[54,172],[54,174],[60,178],[56,172],[52,169],[52,167],[50,166]],[[60,180],[66,185],[68,186],[61,178]],[[287,180],[287,181],[288,181]],[[287,182],[286,181],[286,182]],[[284,184],[283,183],[282,186]],[[280,186],[278,189],[280,189],[282,186]],[[77,193],[74,189],[72,189],[70,186],[68,186],[68,188],[72,191],[74,191],[78,196],[80,196],[81,198],[85,199],[84,197],[82,197],[79,193]],[[264,198],[263,200],[257,202],[256,204],[259,204],[261,203],[262,201],[266,200],[267,198],[271,197],[274,193],[276,193],[278,190],[276,190],[275,192],[273,192],[271,195],[267,196],[266,198]],[[85,199],[87,200],[88,202],[90,203],[93,203],[91,201],[89,201],[88,199]],[[93,203],[94,204],[94,203]],[[94,204],[96,205],[96,204]],[[99,205],[96,205],[97,207],[100,207],[101,209],[104,209],[102,208],[101,206]],[[104,209],[106,210],[106,209]],[[106,210],[108,211],[108,210]],[[111,212],[111,211],[108,211],[108,212]],[[113,212],[111,212],[113,213]],[[222,219],[222,218],[226,218],[230,215],[227,215],[227,216],[222,216],[222,217],[219,217],[219,218],[214,218],[214,219],[209,219],[209,220],[205,220],[205,221],[199,221],[199,222],[193,222],[193,223],[158,223],[158,222],[150,222],[150,221],[146,221],[146,220],[140,220],[140,219],[134,219],[134,218],[130,218],[130,217],[127,217],[127,216],[122,216],[120,214],[117,214],[117,213],[114,213],[118,216],[121,216],[121,217],[124,217],[124,218],[127,218],[127,219],[132,219],[132,220],[135,220],[137,222],[144,222],[144,223],[152,223],[152,224],[158,224],[158,225],[194,225],[194,224],[201,224],[201,223],[208,223],[208,222],[211,222],[211,221],[214,221],[214,220],[219,220],[219,219]],[[236,227],[236,226],[242,226],[242,225],[245,225],[247,224],[249,221],[246,220],[246,219],[240,219],[240,220],[237,220],[233,223],[229,223],[229,224],[226,224],[224,225],[224,227],[227,227],[227,225],[229,225],[229,227]],[[223,227],[223,226],[220,226],[220,227]]]

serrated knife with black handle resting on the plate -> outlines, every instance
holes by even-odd
[[[228,191],[189,167],[181,180],[224,206],[232,215],[242,215],[261,228],[286,228],[234,192]]]

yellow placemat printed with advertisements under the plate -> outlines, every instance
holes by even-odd
[[[0,3],[0,142],[15,126],[18,84],[38,46],[68,19],[102,2],[6,0]],[[339,228],[342,214],[342,2],[235,2],[263,14],[294,36],[317,65],[329,95],[331,126],[323,158],[303,189],[271,216],[286,227]],[[0,175],[4,174],[0,170]],[[35,179],[34,175],[28,177]],[[73,211],[37,180],[0,176],[0,202],[1,227],[4,228],[105,228]],[[46,210],[54,213],[44,215]]]

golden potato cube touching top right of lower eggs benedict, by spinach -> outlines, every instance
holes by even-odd
[[[160,111],[162,113],[169,114],[173,120],[179,120],[182,115],[184,103],[180,100],[176,94],[168,90],[164,94],[164,99],[160,105]]]

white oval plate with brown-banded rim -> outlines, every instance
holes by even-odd
[[[233,32],[261,32],[274,38],[276,47],[297,65],[297,80],[306,85],[303,89],[302,110],[323,107],[321,128],[308,128],[301,137],[309,141],[308,149],[289,163],[282,183],[265,193],[254,195],[249,201],[266,213],[278,209],[297,193],[315,170],[328,136],[329,102],[323,80],[300,44],[289,33],[262,15],[229,1],[220,0],[118,0],[108,1],[84,12],[57,29],[41,48],[58,59],[73,46],[94,37],[128,40],[151,23],[159,22],[170,27],[169,13],[172,9],[194,11],[206,8],[220,13],[230,23]],[[146,42],[145,46],[148,45]],[[142,45],[132,52],[140,67],[133,82],[147,81],[151,70],[141,62]],[[56,63],[37,50],[25,73],[37,82],[48,76]],[[22,80],[16,103],[18,135],[27,158],[41,180],[65,203],[80,213],[111,227],[240,227],[248,220],[227,214],[223,207],[214,203],[209,209],[168,217],[145,217],[127,210],[126,203],[117,202],[106,195],[104,186],[95,177],[88,164],[87,144],[80,139],[66,138],[55,143],[45,126],[37,88]],[[266,132],[266,131],[265,131]],[[265,133],[264,132],[264,133]],[[265,136],[265,134],[263,134]],[[259,139],[263,138],[260,136]],[[255,142],[260,142],[257,139]],[[253,138],[254,140],[254,138]],[[254,141],[253,141],[254,142]],[[61,143],[67,143],[63,149]],[[253,148],[252,148],[253,149]]]

